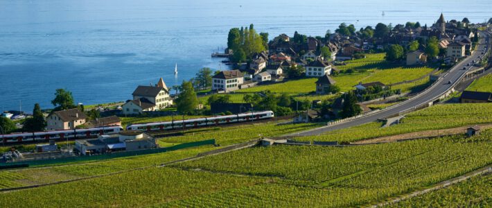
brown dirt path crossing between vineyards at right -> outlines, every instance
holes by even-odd
[[[352,142],[351,144],[378,144],[378,143],[387,143],[387,142],[401,141],[401,140],[407,140],[407,139],[421,139],[421,138],[427,138],[427,137],[440,137],[440,136],[448,136],[448,135],[457,135],[457,134],[463,134],[464,132],[466,132],[466,128],[468,128],[470,126],[472,126],[472,125],[464,125],[464,126],[457,127],[457,128],[446,128],[446,129],[440,129],[440,130],[425,130],[425,131],[421,131],[421,132],[411,132],[411,133],[406,133],[406,134],[402,134],[402,135],[393,135],[393,136],[387,136],[387,137],[378,137],[375,139],[355,141],[355,142]],[[478,126],[480,126],[480,128],[482,128],[482,130],[489,129],[489,128],[492,128],[492,123],[479,124]]]

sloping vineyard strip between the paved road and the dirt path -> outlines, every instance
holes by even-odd
[[[405,115],[402,123],[382,128],[373,122],[313,137],[297,137],[299,141],[359,141],[423,130],[454,128],[476,123],[492,123],[492,103],[434,105]]]

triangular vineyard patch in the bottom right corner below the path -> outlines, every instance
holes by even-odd
[[[490,207],[491,199],[492,174],[488,174],[387,207]]]

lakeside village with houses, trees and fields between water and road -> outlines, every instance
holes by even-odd
[[[473,72],[468,76],[482,76],[488,54],[484,54],[485,50],[477,51],[477,42],[479,29],[484,27],[470,24],[467,18],[446,21],[441,14],[432,26],[407,22],[396,26],[378,24],[356,31],[353,25],[340,24],[334,33],[327,31],[324,37],[296,32],[293,37],[281,34],[270,41],[267,33],[258,35],[253,25],[233,28],[229,32],[229,48],[223,54],[212,55],[227,57],[235,69],[214,72],[204,68],[182,86],[168,87],[160,78],[155,85],[137,86],[129,96],[131,99],[109,107],[76,105],[70,92],[58,89],[52,101],[54,110],[42,112],[37,106],[26,119],[22,112],[4,112],[4,118],[21,122],[2,129],[3,144],[21,141],[18,137],[8,139],[5,135],[9,133],[29,135],[28,132],[87,129],[85,136],[94,138],[100,137],[99,131],[104,128],[122,126],[117,132],[133,135],[135,132],[124,131],[132,123],[184,121],[185,116],[195,119],[266,110],[275,116],[289,116],[293,123],[308,123],[368,114],[418,94],[468,55],[480,54],[464,67]],[[379,71],[385,70],[403,76],[383,73],[378,79]],[[171,93],[173,90],[175,94]],[[465,91],[461,97],[446,102],[489,103],[492,95]],[[69,139],[70,134],[31,135],[23,139]],[[71,139],[76,139],[77,134],[73,132]],[[145,138],[152,142],[143,149],[157,147],[155,138]],[[108,143],[108,139],[114,141]],[[123,141],[101,137],[77,141],[73,146],[82,155],[89,153],[89,146],[98,146],[97,153],[132,149]],[[46,148],[57,149],[53,146],[51,142]],[[36,149],[42,151],[43,147]]]

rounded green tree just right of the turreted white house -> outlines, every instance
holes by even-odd
[[[177,110],[183,114],[191,114],[198,105],[195,89],[193,89],[193,85],[190,82],[183,81],[181,86],[182,92],[175,99]]]

